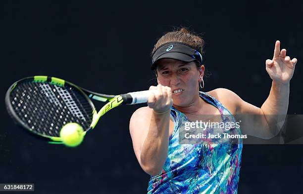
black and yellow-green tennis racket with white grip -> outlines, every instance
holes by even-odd
[[[145,103],[150,94],[149,90],[99,94],[60,78],[34,76],[13,83],[6,92],[5,104],[16,124],[49,143],[61,144],[60,130],[65,124],[76,122],[86,134],[109,110]],[[107,103],[97,112],[91,99]]]

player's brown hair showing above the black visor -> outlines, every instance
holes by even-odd
[[[159,48],[161,45],[167,42],[182,42],[190,45],[191,47],[198,50],[201,54],[203,54],[204,50],[204,40],[196,35],[194,32],[189,32],[186,28],[176,29],[172,32],[168,32],[164,34],[156,44],[153,46],[152,53]],[[197,68],[199,69],[202,64],[195,61]],[[157,75],[157,70],[155,69],[155,74]]]

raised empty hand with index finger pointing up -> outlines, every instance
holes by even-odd
[[[280,41],[277,40],[272,60],[267,59],[265,62],[266,71],[273,81],[287,84],[294,75],[297,62],[296,58],[291,60],[289,56],[286,56],[286,49],[280,51]]]

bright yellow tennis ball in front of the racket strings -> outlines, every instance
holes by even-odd
[[[61,131],[60,137],[62,142],[69,147],[76,147],[83,141],[85,132],[81,125],[75,122],[65,124]]]

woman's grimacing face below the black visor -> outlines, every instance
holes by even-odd
[[[204,66],[198,70],[195,62],[160,59],[157,64],[158,83],[171,88],[173,103],[179,107],[190,105],[198,97],[203,73]]]

